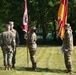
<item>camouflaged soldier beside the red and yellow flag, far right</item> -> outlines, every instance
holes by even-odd
[[[70,24],[64,25],[65,35],[63,39],[63,52],[64,52],[64,60],[66,66],[66,73],[72,73],[72,60],[71,60],[71,51],[73,50],[73,35]]]

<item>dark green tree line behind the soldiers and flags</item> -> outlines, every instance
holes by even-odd
[[[68,23],[76,38],[76,0],[68,0]],[[56,40],[58,33],[58,9],[61,0],[27,0],[29,29],[31,26],[42,28],[43,41],[46,42],[48,33],[54,33]],[[5,25],[11,20],[15,22],[15,29],[19,32],[21,44],[25,43],[22,31],[22,18],[24,13],[24,0],[1,0],[0,1],[0,32],[4,31]]]

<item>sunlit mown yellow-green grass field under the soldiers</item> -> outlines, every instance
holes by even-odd
[[[60,46],[39,46],[36,52],[37,70],[27,67],[27,48],[18,47],[16,55],[16,68],[5,71],[3,66],[2,51],[0,50],[0,75],[70,75],[64,72],[64,58]],[[72,52],[73,74],[76,75],[76,47]]]

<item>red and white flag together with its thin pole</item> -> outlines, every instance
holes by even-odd
[[[24,36],[26,39],[26,47],[27,47],[27,67],[29,67],[29,53],[28,53],[28,13],[27,13],[27,0],[24,0],[24,15],[23,15],[23,31],[25,32]]]

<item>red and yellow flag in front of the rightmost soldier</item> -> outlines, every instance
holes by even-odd
[[[58,10],[59,36],[64,38],[64,25],[67,22],[68,0],[62,0]]]

